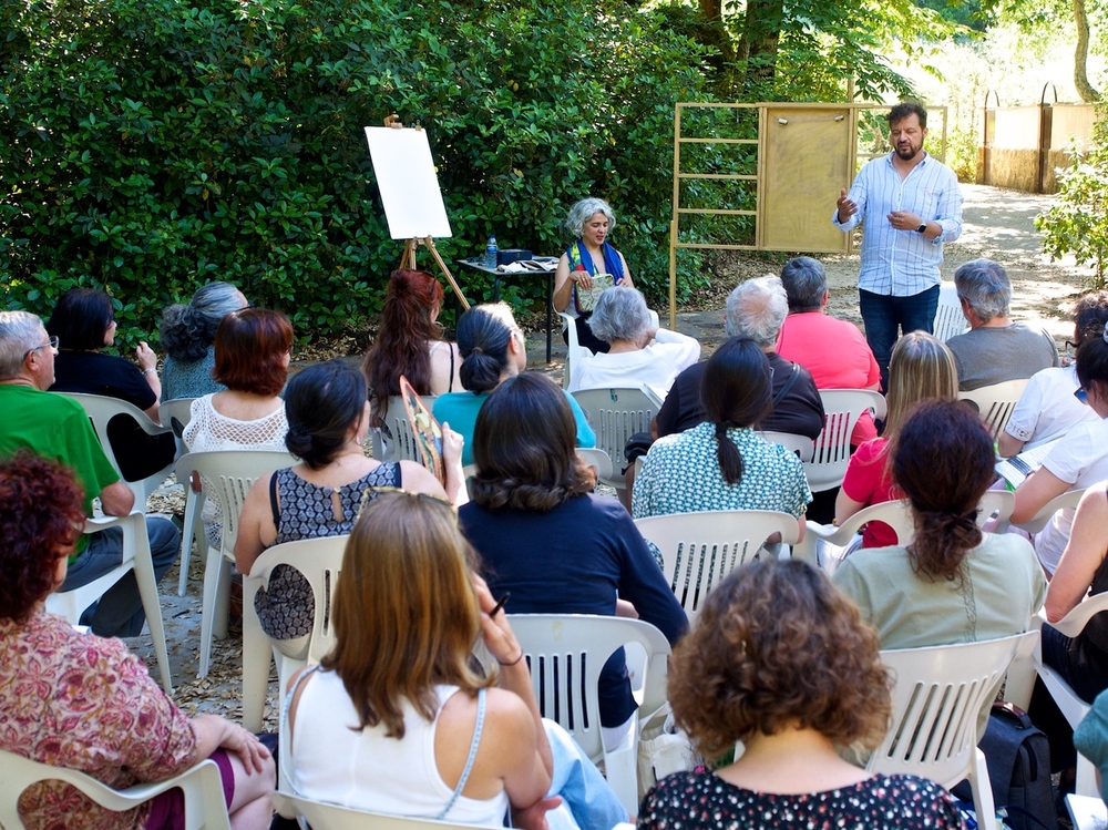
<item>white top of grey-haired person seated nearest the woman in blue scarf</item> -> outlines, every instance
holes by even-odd
[[[665,400],[677,376],[699,357],[700,344],[695,338],[659,328],[645,349],[583,357],[568,391],[645,386]]]

